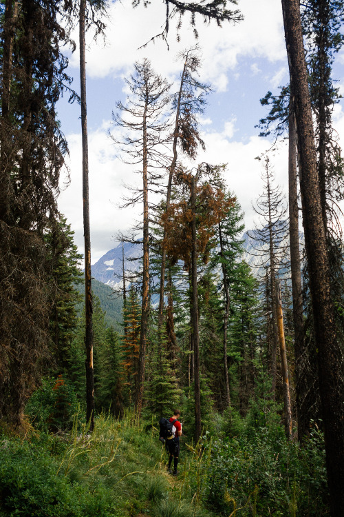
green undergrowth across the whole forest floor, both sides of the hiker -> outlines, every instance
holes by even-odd
[[[154,423],[153,423],[154,424]],[[303,449],[281,429],[206,434],[182,442],[179,476],[166,472],[158,429],[102,414],[94,432],[0,436],[0,515],[37,517],[326,516],[323,438]]]

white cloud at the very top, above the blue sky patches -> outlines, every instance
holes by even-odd
[[[199,43],[203,49],[202,81],[211,81],[218,91],[228,85],[226,72],[234,70],[238,60],[244,57],[264,58],[270,62],[285,59],[281,5],[276,0],[241,0],[239,8],[244,21],[233,25],[223,23],[217,27],[214,22],[197,23]],[[131,70],[133,62],[148,57],[153,68],[166,77],[172,77],[180,70],[175,55],[195,44],[189,15],[183,19],[181,43],[176,41],[175,21],[169,33],[170,51],[166,44],[157,39],[146,48],[139,48],[155,34],[159,34],[164,23],[165,7],[161,0],[152,0],[151,5],[133,9],[131,0],[112,3],[109,8],[109,22],[106,44],[94,43],[89,39],[87,52],[87,73],[90,77],[122,77]],[[77,38],[76,38],[77,40]],[[257,43],[259,42],[259,43]],[[71,64],[78,67],[78,52]]]

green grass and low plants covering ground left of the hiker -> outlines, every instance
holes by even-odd
[[[156,429],[144,432],[132,415],[100,415],[92,435],[76,416],[60,436],[0,438],[1,516],[157,517],[168,508],[197,516],[182,492],[183,476],[166,472]]]

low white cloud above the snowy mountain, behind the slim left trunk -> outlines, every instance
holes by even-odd
[[[124,213],[118,204],[126,189],[122,184],[138,181],[132,168],[116,159],[105,128],[89,133],[89,205],[92,263],[114,247],[116,231],[125,231],[140,214],[140,207]],[[75,243],[83,253],[82,150],[80,135],[67,135],[70,153],[70,185],[61,192],[59,210],[72,223]],[[63,180],[62,180],[63,181]]]

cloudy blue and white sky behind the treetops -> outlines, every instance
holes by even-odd
[[[234,6],[235,7],[235,6]],[[271,148],[271,141],[259,137],[255,125],[267,114],[259,99],[269,90],[277,93],[288,83],[288,63],[283,35],[281,2],[277,0],[239,0],[237,7],[244,15],[239,23],[204,23],[197,19],[197,40],[202,50],[200,81],[209,83],[206,112],[200,119],[200,132],[206,143],[195,165],[202,161],[228,163],[226,182],[244,211],[246,230],[254,227],[257,217],[252,202],[261,193],[262,162],[257,160]],[[131,0],[111,3],[108,11],[105,41],[87,39],[87,126],[89,138],[89,203],[92,263],[116,247],[116,234],[125,232],[137,219],[142,207],[120,209],[125,183],[138,183],[136,168],[125,165],[116,156],[109,138],[113,129],[111,114],[116,102],[125,103],[125,78],[133,72],[135,61],[144,57],[162,77],[173,82],[178,90],[181,63],[179,52],[195,45],[190,16],[183,17],[180,42],[175,24],[170,24],[169,49],[161,39],[140,48],[161,32],[165,8],[162,0],[151,0],[147,8],[133,8]],[[74,39],[78,40],[76,33]],[[336,59],[334,75],[344,92],[344,53]],[[67,72],[74,78],[72,88],[80,90],[78,48],[69,56]],[[80,106],[67,103],[67,95],[58,103],[58,119],[69,144],[67,174],[61,176],[59,210],[75,232],[74,240],[83,253],[83,198]],[[344,115],[341,103],[334,110],[334,124],[344,139]],[[287,194],[288,149],[281,143],[270,155],[276,182]],[[140,183],[138,183],[140,184]]]

